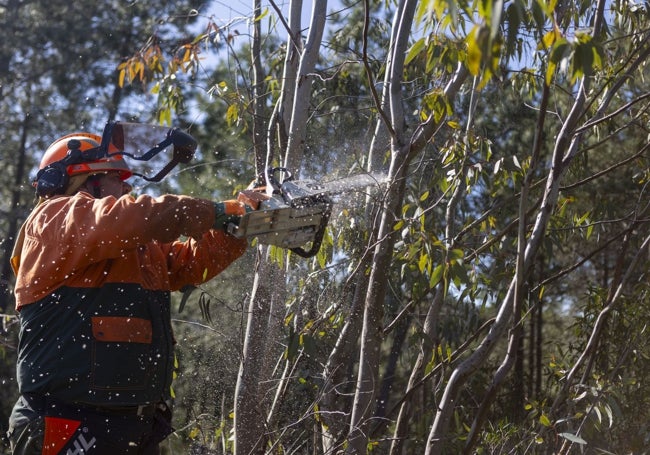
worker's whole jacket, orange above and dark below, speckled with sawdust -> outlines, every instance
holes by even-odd
[[[39,204],[12,258],[20,392],[104,406],[167,398],[170,291],[213,278],[247,246],[211,229],[214,218],[211,201],[186,196]]]

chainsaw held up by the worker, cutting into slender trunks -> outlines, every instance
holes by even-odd
[[[278,176],[283,175],[280,179]],[[261,244],[287,248],[303,258],[315,256],[332,213],[336,194],[377,185],[384,177],[361,174],[320,183],[294,180],[282,167],[260,174],[237,200],[253,210],[231,223],[227,231],[237,238],[256,237]],[[307,247],[308,244],[311,244]]]

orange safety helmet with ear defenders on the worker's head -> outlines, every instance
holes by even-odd
[[[36,193],[41,197],[63,194],[68,188],[70,177],[118,171],[122,180],[131,177],[132,172],[119,150],[109,145],[109,156],[100,156],[102,138],[96,134],[73,133],[54,141],[43,154],[36,180]],[[113,155],[115,153],[115,155]]]

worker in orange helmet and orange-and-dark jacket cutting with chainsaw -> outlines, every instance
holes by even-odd
[[[100,141],[75,133],[46,150],[35,182],[45,190],[12,254],[14,454],[159,453],[173,432],[170,291],[211,279],[247,248],[225,230],[246,206],[134,197],[123,156],[98,158]]]

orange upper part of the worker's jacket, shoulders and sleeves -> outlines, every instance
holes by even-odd
[[[144,280],[151,289],[178,289],[205,281],[247,245],[212,230],[214,217],[211,201],[187,196],[94,199],[77,193],[46,201],[25,222],[19,256],[12,259],[17,307],[66,283]],[[180,241],[183,236],[188,239]]]

